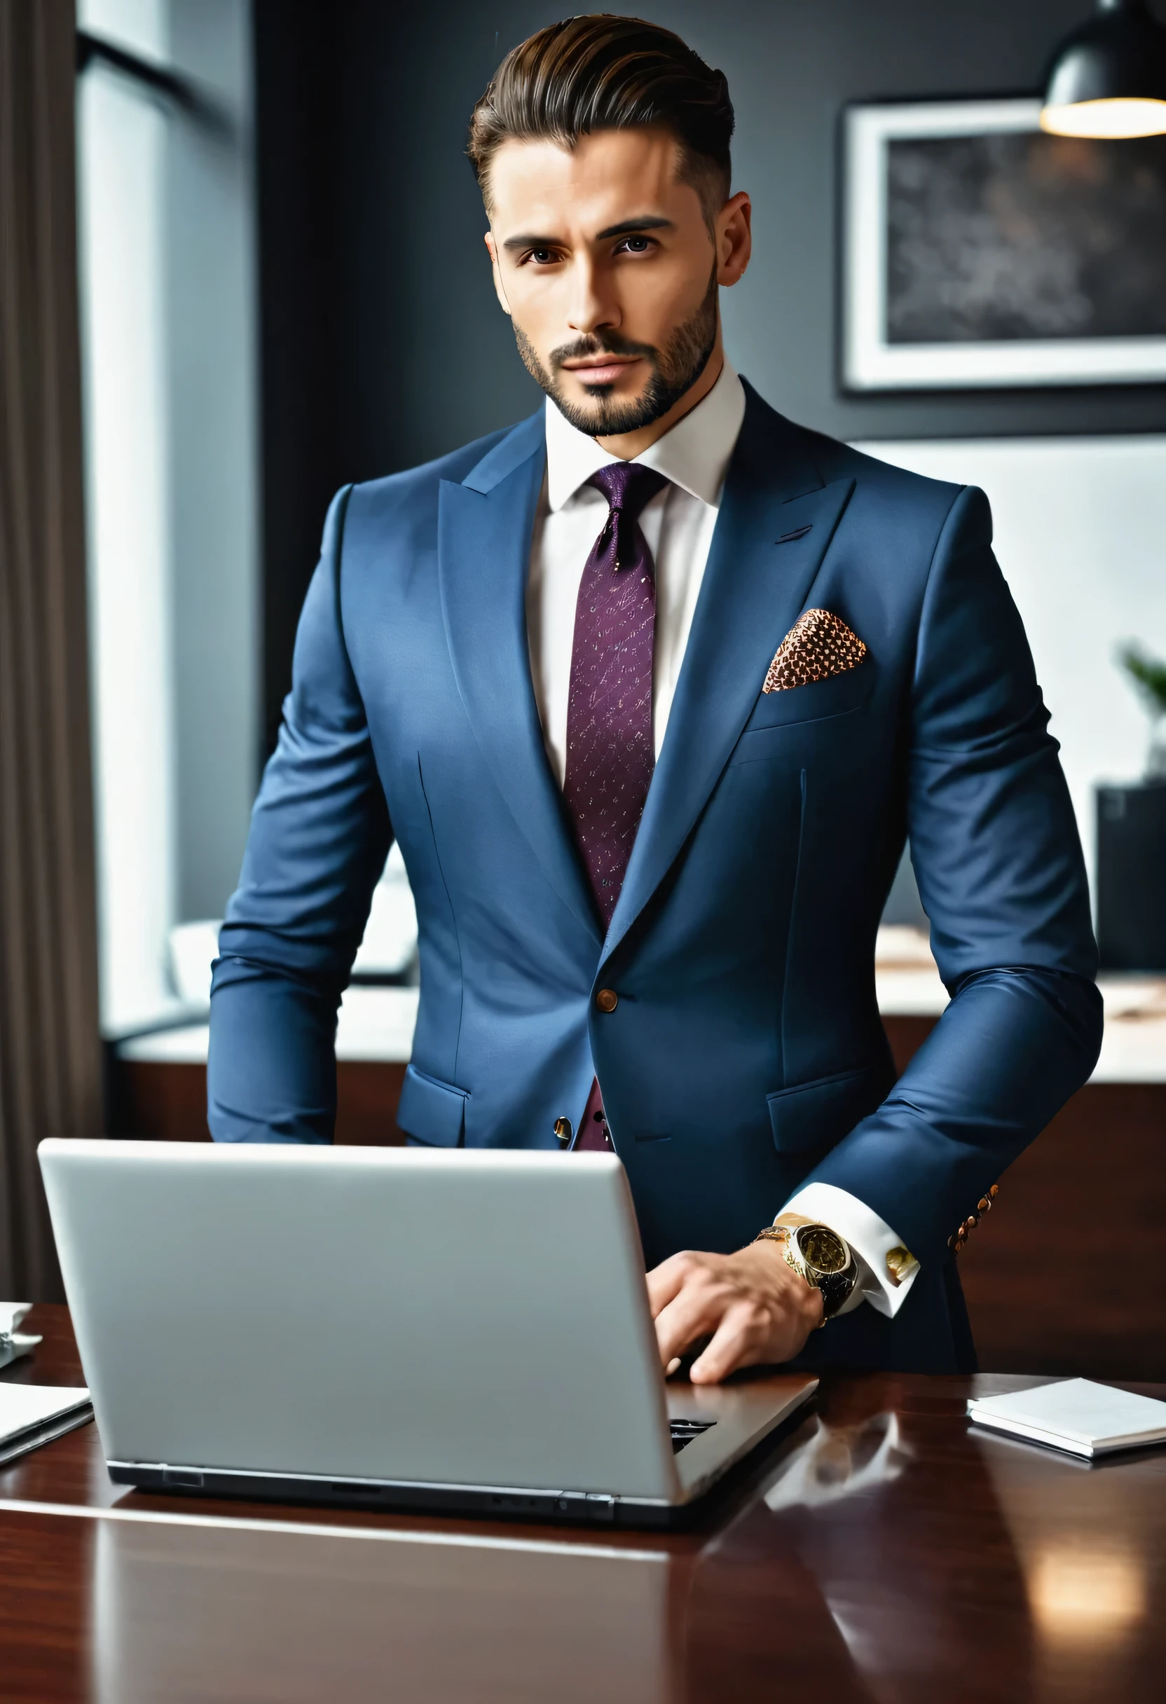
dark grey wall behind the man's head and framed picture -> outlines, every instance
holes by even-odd
[[[537,394],[489,285],[469,109],[566,9],[256,0],[264,302],[266,724],[329,492],[520,417]],[[1088,0],[656,0],[728,78],[757,257],[726,295],[738,366],[840,438],[1166,429],[1166,387],[844,399],[835,136],[846,101],[1030,92]]]

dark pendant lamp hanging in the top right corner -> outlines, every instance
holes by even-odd
[[[1057,48],[1040,128],[1053,136],[1166,135],[1166,27],[1146,0],[1098,0]]]

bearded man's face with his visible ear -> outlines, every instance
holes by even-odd
[[[609,130],[574,148],[506,141],[491,160],[498,298],[530,373],[595,438],[649,426],[697,383],[718,283],[748,261],[748,199],[709,230],[678,152],[663,130]]]

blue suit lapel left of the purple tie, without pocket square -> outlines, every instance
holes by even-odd
[[[527,567],[545,462],[542,411],[438,498],[442,613],[477,743],[552,888],[602,939],[542,741],[527,649]]]

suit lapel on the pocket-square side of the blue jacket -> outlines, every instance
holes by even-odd
[[[823,486],[796,429],[748,387],[747,395],[668,731],[603,958],[668,872],[716,787],[854,489],[852,481]]]

